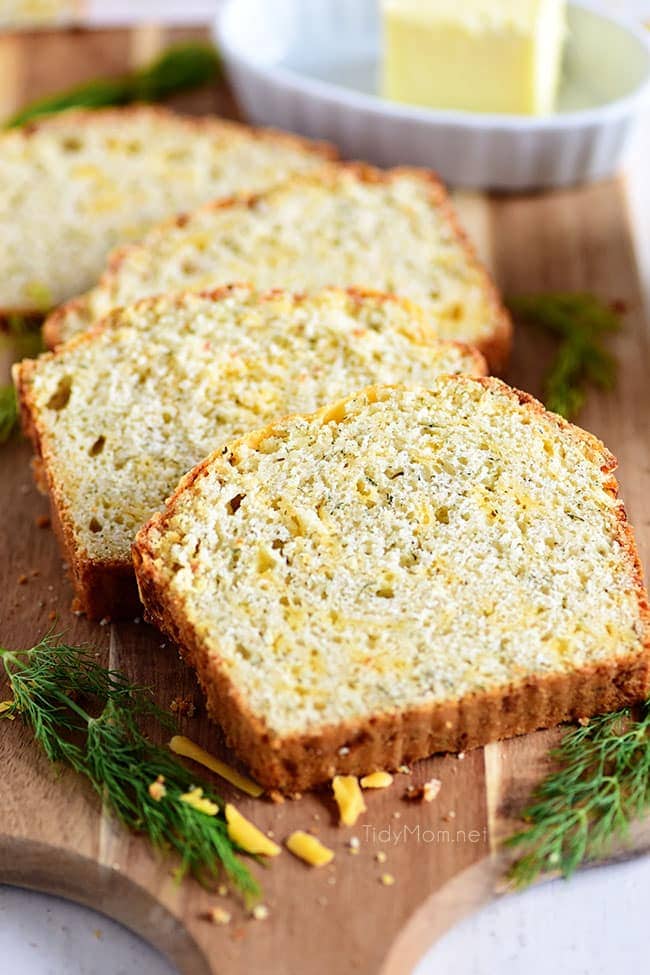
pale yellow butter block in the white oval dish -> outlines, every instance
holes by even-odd
[[[382,0],[385,97],[429,108],[554,110],[565,0]]]

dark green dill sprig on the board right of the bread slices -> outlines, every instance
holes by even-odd
[[[506,304],[516,319],[542,328],[560,341],[544,378],[544,402],[549,410],[572,419],[584,405],[589,384],[613,388],[616,360],[603,339],[621,327],[615,307],[584,292],[517,295]]]

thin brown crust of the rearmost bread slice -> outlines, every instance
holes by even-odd
[[[70,123],[83,128],[87,125],[108,124],[114,125],[124,122],[125,119],[137,120],[138,118],[148,118],[166,124],[174,124],[189,132],[209,131],[224,134],[233,132],[239,135],[246,134],[249,138],[256,141],[271,141],[278,145],[284,145],[288,149],[294,149],[309,155],[320,156],[323,164],[338,158],[337,149],[328,142],[318,142],[295,135],[292,132],[283,132],[279,129],[256,128],[235,122],[232,119],[221,118],[217,115],[183,115],[161,105],[134,104],[126,108],[97,108],[97,109],[77,109],[72,108],[56,115],[49,115],[27,122],[18,129],[11,129],[3,138],[29,140],[43,129],[57,129],[67,127]],[[2,139],[0,139],[0,147]],[[0,323],[7,320],[12,315],[43,316],[44,309],[33,305],[22,305],[15,308],[0,307]],[[50,329],[46,329],[47,335]],[[50,345],[46,338],[46,343]],[[54,343],[58,344],[58,343]],[[50,347],[53,347],[50,345]]]

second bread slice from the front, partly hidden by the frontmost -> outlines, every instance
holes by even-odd
[[[15,370],[24,428],[79,608],[139,612],[130,547],[181,475],[229,437],[369,381],[482,374],[421,311],[377,294],[256,295],[233,286],[144,299]]]

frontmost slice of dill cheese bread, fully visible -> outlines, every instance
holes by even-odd
[[[199,464],[140,592],[265,786],[609,711],[650,677],[615,463],[496,379],[370,388]]]

